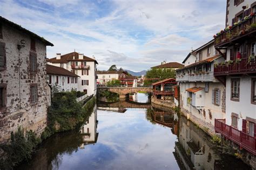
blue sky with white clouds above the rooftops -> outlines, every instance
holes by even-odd
[[[76,49],[132,71],[182,62],[225,27],[225,0],[0,0],[0,16],[55,46],[47,57]]]

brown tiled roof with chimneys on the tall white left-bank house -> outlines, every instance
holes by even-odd
[[[60,59],[56,59],[55,57],[55,58],[47,59],[46,61],[51,63],[68,63],[70,61],[84,61],[84,62],[96,62],[98,64],[98,62],[93,58],[84,56],[83,59],[78,59],[78,56],[79,56],[78,52],[71,52],[66,55],[60,56]]]

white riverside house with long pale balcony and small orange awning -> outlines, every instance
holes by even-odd
[[[181,111],[194,123],[214,133],[214,119],[225,118],[225,86],[213,76],[214,62],[224,61],[214,40],[192,51],[183,69],[176,70]]]

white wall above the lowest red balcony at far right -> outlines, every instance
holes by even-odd
[[[231,78],[240,78],[239,101],[230,100]],[[246,117],[256,119],[256,105],[251,104],[251,78],[249,76],[228,76],[226,80],[226,124],[231,125],[231,113],[237,113],[239,115],[238,130],[240,131],[242,130],[242,119],[246,119]]]

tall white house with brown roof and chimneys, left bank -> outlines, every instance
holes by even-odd
[[[86,57],[77,52],[71,52],[66,55],[57,53],[56,57],[48,59],[47,63],[63,67],[64,69],[77,74],[80,77],[78,79],[78,91],[86,92],[89,96],[92,94],[96,95],[96,65],[98,63],[95,59]]]

